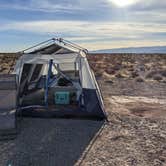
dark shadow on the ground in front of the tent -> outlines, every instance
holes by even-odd
[[[0,142],[0,165],[74,165],[103,121],[25,118],[15,140]]]

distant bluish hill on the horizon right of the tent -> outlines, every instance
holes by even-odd
[[[95,50],[91,53],[166,53],[166,46],[154,46],[154,47],[129,47],[129,48],[115,48],[105,50]]]

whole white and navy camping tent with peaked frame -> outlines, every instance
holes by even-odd
[[[14,69],[22,115],[106,118],[86,56],[82,47],[55,38],[24,50]]]

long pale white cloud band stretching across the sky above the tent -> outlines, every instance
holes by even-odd
[[[137,38],[148,33],[166,32],[166,24],[109,23],[87,21],[26,21],[2,24],[0,31],[16,30],[36,34],[61,33],[92,37]]]

